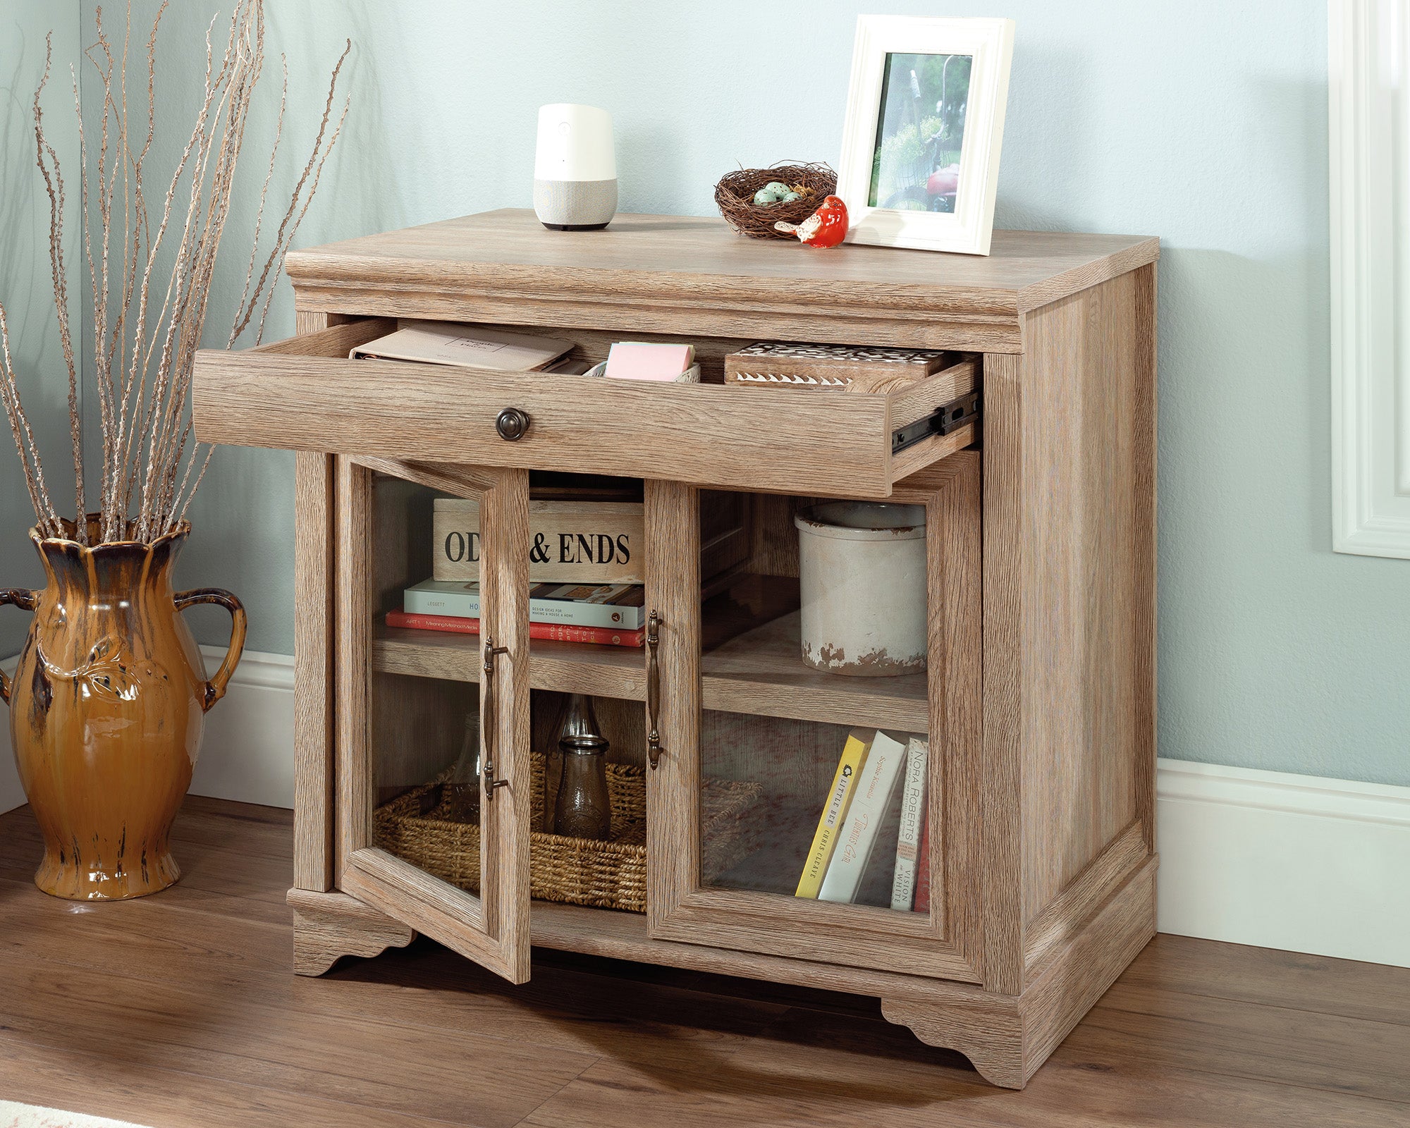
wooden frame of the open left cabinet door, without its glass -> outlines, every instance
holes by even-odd
[[[374,838],[372,481],[389,474],[481,503],[481,646],[496,647],[495,677],[479,681],[481,716],[492,712],[495,776],[508,785],[489,801],[481,781],[481,894],[465,893],[381,850]],[[529,979],[529,474],[523,470],[337,458],[337,887],[508,979]],[[488,694],[494,694],[494,702]],[[485,754],[486,743],[481,744]]]

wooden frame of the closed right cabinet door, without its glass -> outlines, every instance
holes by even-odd
[[[907,478],[887,501],[926,508],[931,914],[702,887],[699,492],[649,481],[647,608],[661,616],[664,749],[647,773],[647,915],[654,939],[983,981],[979,454],[959,453]]]

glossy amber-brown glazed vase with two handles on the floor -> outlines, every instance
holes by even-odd
[[[63,525],[72,534],[73,523]],[[87,527],[96,540],[96,515]],[[204,713],[224,695],[245,640],[245,611],[228,591],[172,591],[188,536],[182,522],[151,544],[85,547],[31,529],[48,587],[0,591],[0,605],[34,612],[14,678],[0,673],[0,698],[44,835],[34,884],[55,897],[142,897],[180,877],[168,836]],[[233,619],[210,681],[180,618],[193,603],[220,603]]]

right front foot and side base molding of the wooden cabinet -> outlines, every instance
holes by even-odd
[[[1022,1089],[1155,936],[1152,857],[1019,995],[976,991],[945,1005],[883,998],[888,1022],[953,1049],[990,1084]]]

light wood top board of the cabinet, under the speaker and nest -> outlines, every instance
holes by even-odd
[[[1152,262],[1159,241],[1141,235],[995,231],[991,254],[959,255],[843,244],[818,251],[735,234],[723,220],[619,214],[601,231],[550,231],[527,209],[409,227],[293,251],[296,289],[436,282],[637,293],[650,282],[699,296],[780,302],[877,300],[1021,313]],[[909,299],[909,300],[907,300]]]

